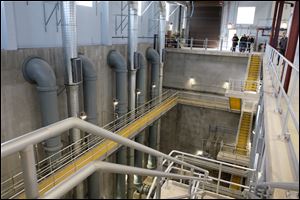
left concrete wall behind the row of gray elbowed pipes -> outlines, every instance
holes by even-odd
[[[138,51],[145,56],[150,43],[140,43]],[[97,117],[98,125],[103,126],[113,119],[112,99],[115,95],[114,71],[107,65],[107,54],[110,50],[119,51],[127,56],[127,45],[112,46],[79,46],[78,52],[84,53],[95,64],[97,71]],[[1,143],[21,136],[41,127],[41,113],[38,103],[36,87],[23,78],[22,63],[28,56],[39,56],[53,67],[58,89],[59,119],[67,118],[67,97],[64,89],[64,68],[62,48],[31,48],[13,51],[1,50]],[[80,87],[81,105],[83,110],[82,86]],[[67,134],[64,134],[63,144],[68,143]],[[37,160],[43,157],[39,147]],[[18,155],[9,156],[1,162],[1,181],[11,174],[21,171]],[[113,185],[112,179],[106,176],[106,185]],[[106,187],[112,188],[112,187]],[[112,189],[105,190],[105,198],[112,197]]]

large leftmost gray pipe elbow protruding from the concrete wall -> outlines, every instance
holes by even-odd
[[[31,84],[37,84],[42,91],[56,90],[56,77],[51,66],[42,58],[31,56],[22,66],[23,76]]]

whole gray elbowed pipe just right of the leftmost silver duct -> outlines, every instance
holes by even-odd
[[[97,103],[96,103],[96,81],[97,72],[92,61],[84,56],[79,55],[82,61],[82,75],[83,75],[83,98],[84,110],[87,115],[86,121],[97,125]],[[99,198],[99,172],[93,173],[88,177],[88,196],[89,199]]]

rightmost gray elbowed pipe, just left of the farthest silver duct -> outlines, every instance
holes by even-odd
[[[151,99],[159,95],[159,54],[149,47],[146,52],[147,60],[151,63]],[[157,149],[157,129],[158,121],[149,127],[149,147]],[[156,158],[149,155],[147,168],[156,168]]]

